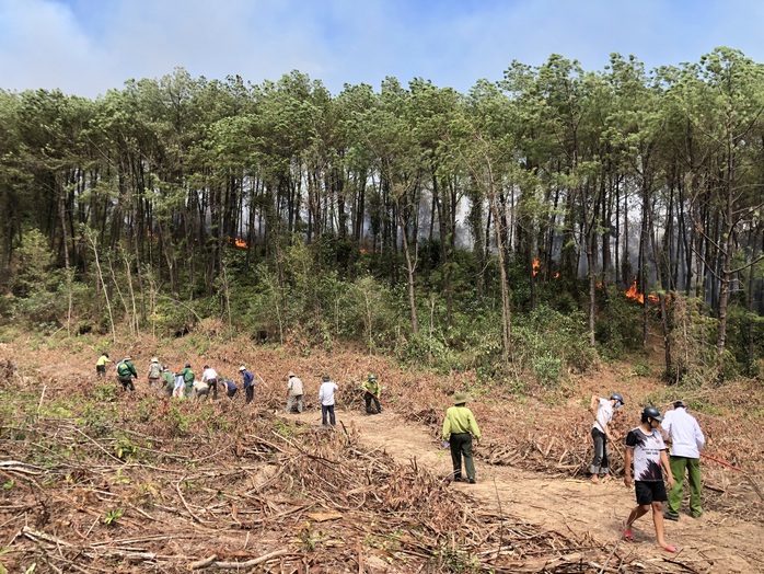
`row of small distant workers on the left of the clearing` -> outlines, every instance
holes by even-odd
[[[103,379],[106,377],[106,364],[114,363],[108,353],[103,353],[95,363],[95,375]],[[135,391],[134,380],[138,379],[138,371],[132,363],[132,357],[126,355],[125,358],[115,363],[117,381],[121,384],[123,391]],[[244,366],[239,367],[242,377],[242,389],[246,394],[246,402],[252,402],[255,391],[255,376]],[[218,400],[218,386],[229,399],[233,399],[239,391],[239,386],[231,379],[220,377],[218,372],[205,365],[201,378],[197,379],[190,363],[182,369],[171,371],[167,365],[162,365],[158,357],[152,357],[148,368],[148,381],[152,389],[162,391],[166,398],[206,399],[210,394],[212,400]]]

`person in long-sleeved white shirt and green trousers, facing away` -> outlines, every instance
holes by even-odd
[[[663,416],[661,423],[663,438],[671,440],[671,475],[674,479],[674,487],[669,491],[669,507],[663,513],[663,518],[679,520],[679,509],[684,498],[684,471],[687,471],[690,483],[690,512],[693,518],[703,514],[701,506],[701,451],[706,446],[706,437],[701,431],[701,425],[693,415],[687,412],[683,401],[675,401],[673,411]]]

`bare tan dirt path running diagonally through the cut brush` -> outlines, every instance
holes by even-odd
[[[303,422],[320,422],[315,411],[289,415]],[[425,426],[404,421],[385,411],[366,416],[350,411],[337,412],[337,424],[356,427],[364,445],[386,451],[396,461],[415,460],[436,474],[448,477],[451,458]],[[484,437],[489,439],[490,437]],[[477,447],[479,452],[479,447]],[[512,467],[496,467],[476,460],[477,484],[453,483],[475,497],[476,504],[501,512],[568,536],[591,535],[604,544],[618,544],[616,556],[638,553],[644,562],[675,559],[697,572],[764,572],[761,540],[764,525],[740,517],[707,510],[701,518],[683,515],[679,523],[665,523],[665,539],[679,548],[668,554],[655,546],[649,516],[634,526],[633,543],[620,542],[621,524],[636,504],[633,489],[612,480],[594,485],[574,479],[552,479]]]

